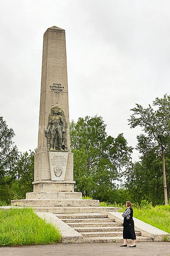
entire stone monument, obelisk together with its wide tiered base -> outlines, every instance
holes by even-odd
[[[47,29],[43,40],[42,78],[38,147],[34,156],[34,190],[24,200],[12,200],[12,206],[42,207],[99,206],[98,200],[82,200],[74,192],[73,153],[70,147],[68,79],[65,30]],[[71,208],[70,208],[71,209]],[[79,212],[72,209],[70,212]]]

